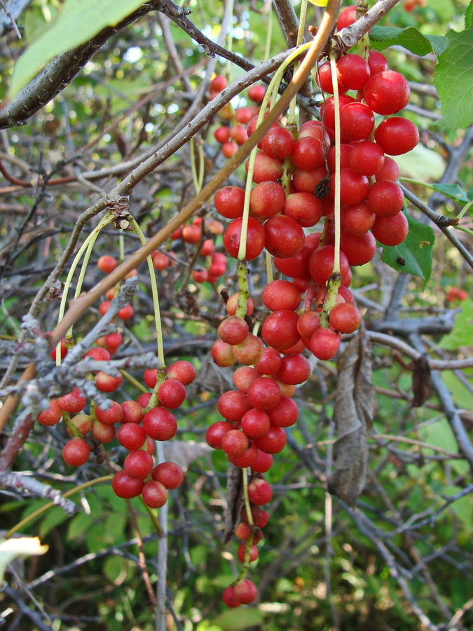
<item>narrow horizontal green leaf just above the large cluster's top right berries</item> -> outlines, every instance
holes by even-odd
[[[441,55],[448,46],[448,39],[441,35],[423,35],[413,27],[398,29],[395,27],[375,26],[369,34],[371,47],[383,50],[388,46],[403,46],[415,55],[435,53]]]

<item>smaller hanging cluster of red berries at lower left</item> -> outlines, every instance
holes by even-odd
[[[95,346],[85,357],[97,362],[107,362],[111,356],[105,348]],[[108,377],[107,387],[99,388],[111,393],[120,386],[122,377]],[[49,408],[39,414],[41,425],[53,426],[61,419],[73,437],[62,451],[64,461],[78,467],[88,461],[90,452],[97,455],[100,444],[106,445],[116,437],[120,445],[128,450],[123,469],[114,475],[112,488],[118,497],[132,498],[142,495],[150,508],[160,508],[167,501],[167,491],[179,487],[183,473],[179,465],[163,462],[155,466],[153,460],[154,441],[170,440],[177,432],[177,420],[171,409],[177,409],[186,398],[185,386],[196,376],[191,362],[180,360],[166,370],[147,369],[144,382],[153,392],[139,395],[137,400],[118,403],[109,400],[109,407],[90,403],[90,412],[84,412],[87,399],[78,388],[50,401]],[[96,385],[98,387],[97,381]],[[154,397],[154,403],[152,398]],[[117,429],[118,426],[118,429]],[[89,436],[90,435],[90,436]]]

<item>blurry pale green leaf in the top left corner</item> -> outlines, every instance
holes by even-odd
[[[66,0],[50,27],[16,62],[9,98],[15,97],[54,57],[88,41],[105,27],[118,24],[142,4],[143,0]]]

